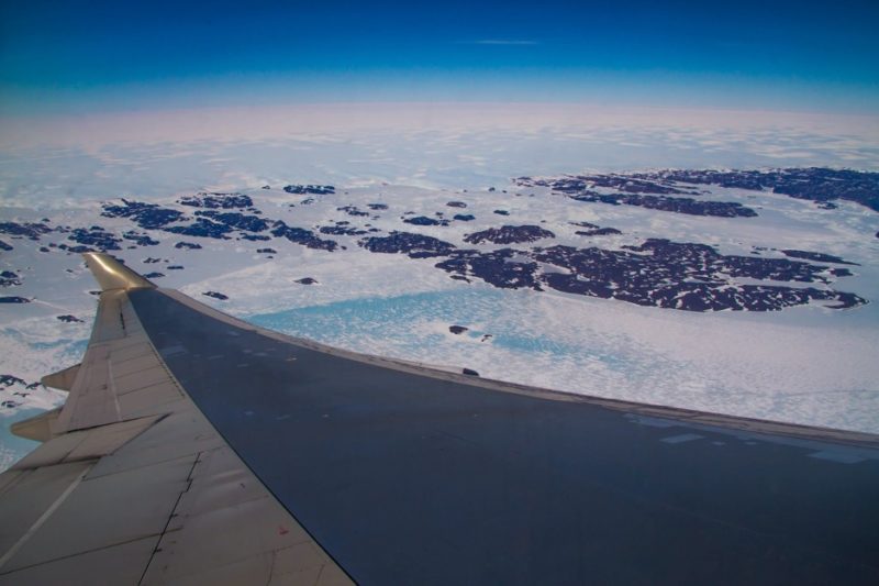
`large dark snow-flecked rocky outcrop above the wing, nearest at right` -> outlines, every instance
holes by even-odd
[[[832,309],[854,308],[861,297],[830,288],[785,286],[787,283],[830,284],[850,275],[788,258],[722,255],[705,244],[650,239],[625,250],[576,248],[556,245],[533,251],[503,248],[453,251],[436,267],[453,278],[482,279],[500,288],[542,286],[639,306],[688,311],[776,311],[786,307],[830,301]],[[738,285],[735,278],[761,279],[766,285]]]

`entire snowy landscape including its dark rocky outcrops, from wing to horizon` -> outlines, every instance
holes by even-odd
[[[9,422],[63,400],[41,376],[86,347],[97,285],[85,250],[349,350],[879,432],[879,180],[834,170],[870,168],[875,143],[614,129],[535,126],[519,135],[526,146],[500,131],[411,131],[7,147],[0,468],[27,446]],[[642,164],[582,164],[610,144],[614,161]],[[743,167],[834,169],[690,173],[738,166],[735,150]],[[281,170],[297,153],[307,163]]]

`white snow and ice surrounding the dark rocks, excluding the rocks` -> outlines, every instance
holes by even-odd
[[[511,179],[665,166],[868,169],[879,161],[875,126],[857,121],[846,125],[766,117],[736,130],[698,118],[680,122],[659,117],[650,120],[661,124],[645,124],[643,118],[620,114],[608,123],[581,120],[565,126],[559,117],[552,123],[534,120],[519,126],[494,121],[469,130],[419,130],[413,123],[405,132],[324,128],[283,136],[282,129],[272,134],[266,124],[264,135],[249,142],[220,141],[191,129],[191,140],[176,136],[166,143],[156,136],[152,143],[123,144],[111,135],[85,145],[56,136],[53,146],[22,142],[0,148],[0,221],[47,219],[52,228],[100,225],[116,236],[130,230],[148,233],[158,245],[127,248],[133,242],[123,241],[123,250],[111,252],[141,274],[164,274],[155,278],[162,287],[181,289],[262,325],[348,350],[466,366],[483,377],[572,392],[879,432],[879,213],[847,201],[825,210],[767,191],[699,186],[708,191],[701,199],[738,201],[758,217],[686,215],[578,202],[547,189],[516,187]],[[112,124],[107,129],[109,134],[118,132]],[[336,192],[293,195],[282,190],[288,184],[332,184]],[[178,200],[202,190],[248,195],[262,218],[311,230],[345,250],[312,250],[282,237],[252,242],[241,240],[241,232],[216,240],[145,231],[130,219],[100,215],[102,202],[125,197],[193,218],[196,209]],[[303,203],[308,199],[314,201]],[[447,207],[448,201],[463,201],[467,208]],[[388,209],[370,210],[368,203]],[[370,215],[348,215],[338,210],[345,206]],[[509,215],[494,213],[498,209]],[[435,218],[436,212],[450,220],[449,225],[402,221]],[[456,213],[476,219],[452,220]],[[372,253],[357,244],[365,236],[318,233],[318,226],[338,221],[378,230],[367,235],[410,232],[481,251],[502,246],[470,245],[464,236],[504,224],[534,224],[555,234],[509,245],[521,250],[555,244],[620,250],[663,237],[710,244],[725,255],[748,255],[755,247],[766,247],[764,256],[779,258],[782,248],[814,251],[859,266],[839,265],[854,275],[833,278],[828,285],[783,285],[831,287],[868,303],[852,310],[812,302],[772,312],[697,313],[553,290],[498,289],[478,278],[449,278],[434,266],[442,258]],[[581,236],[576,231],[582,228],[571,222],[615,228],[622,234]],[[68,235],[51,232],[32,241],[0,234],[13,246],[0,252],[0,270],[14,272],[21,280],[20,286],[1,288],[0,295],[32,299],[0,305],[0,374],[25,385],[78,362],[90,332],[96,298],[89,291],[98,287],[79,255],[40,251],[49,243],[75,245]],[[179,242],[201,248],[175,247]],[[257,253],[259,248],[276,252]],[[147,262],[151,258],[158,262]],[[316,284],[298,283],[307,277]],[[202,295],[208,291],[229,299]],[[68,314],[82,321],[57,319]],[[467,330],[455,334],[450,325]],[[7,427],[23,410],[60,400],[59,392],[40,386],[0,384],[0,424]],[[0,434],[0,468],[14,457],[3,445],[5,438]]]

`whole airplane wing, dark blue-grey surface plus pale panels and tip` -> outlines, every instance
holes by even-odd
[[[86,257],[0,584],[879,583],[877,435],[354,354]]]

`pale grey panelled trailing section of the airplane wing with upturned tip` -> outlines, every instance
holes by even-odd
[[[168,368],[131,301],[155,286],[86,258],[88,350],[44,378],[67,401],[12,429],[45,443],[0,475],[0,584],[349,584]]]

